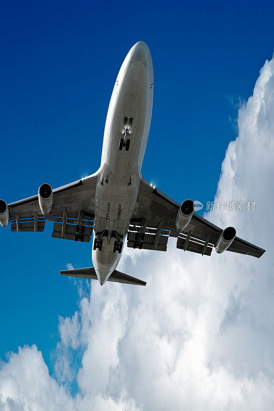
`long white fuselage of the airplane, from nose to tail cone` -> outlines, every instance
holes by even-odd
[[[126,55],[120,68],[105,123],[94,203],[93,241],[96,244],[101,241],[101,247],[94,249],[93,242],[92,253],[101,285],[119,263],[134,212],[150,129],[152,102],[151,54],[145,43],[138,42]],[[115,247],[119,246],[120,250],[114,252]]]

